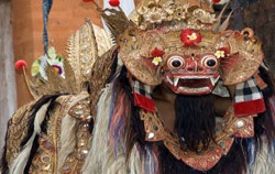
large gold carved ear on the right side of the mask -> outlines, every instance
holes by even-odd
[[[229,70],[223,70],[223,85],[237,85],[252,77],[261,66],[264,54],[262,43],[255,36],[245,37],[240,32],[227,31],[221,33],[221,40],[228,41],[231,53],[235,56],[228,64]]]

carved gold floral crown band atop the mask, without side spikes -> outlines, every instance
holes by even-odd
[[[141,29],[167,26],[173,31],[210,31],[218,22],[207,0],[143,0],[132,17]]]

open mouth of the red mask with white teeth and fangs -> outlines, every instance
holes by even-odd
[[[206,95],[210,94],[220,76],[165,76],[165,84],[176,94]]]

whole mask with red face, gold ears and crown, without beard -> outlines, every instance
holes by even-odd
[[[164,83],[176,94],[210,94],[252,77],[263,61],[251,29],[226,31],[208,2],[144,1],[139,23],[118,36],[119,57],[130,73],[150,86]],[[227,7],[224,7],[226,9]]]

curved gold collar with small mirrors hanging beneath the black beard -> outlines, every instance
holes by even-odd
[[[215,142],[212,141],[207,150],[197,153],[183,150],[178,138],[165,130],[156,113],[141,110],[140,116],[144,121],[146,141],[163,141],[164,145],[176,159],[199,171],[210,170],[220,161],[222,155],[227,155],[234,137],[251,138],[254,135],[253,116],[238,118],[234,116],[231,106],[224,118],[217,121]]]

